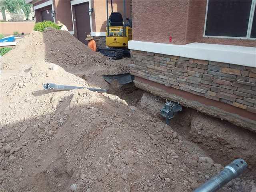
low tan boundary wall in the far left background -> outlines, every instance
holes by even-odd
[[[0,33],[11,35],[18,31],[24,34],[30,33],[34,28],[35,22],[0,22]]]

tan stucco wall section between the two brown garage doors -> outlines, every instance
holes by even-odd
[[[73,31],[70,0],[55,0],[54,9],[56,12],[55,21],[62,22],[69,31]]]

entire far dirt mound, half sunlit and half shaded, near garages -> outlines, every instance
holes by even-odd
[[[46,61],[58,64],[68,70],[79,67],[86,71],[88,66],[100,66],[99,74],[128,73],[128,63],[115,61],[99,52],[93,52],[69,32],[48,28],[45,32],[33,31],[28,34],[2,59],[3,68],[13,68],[18,63]],[[11,59],[11,62],[10,62]]]

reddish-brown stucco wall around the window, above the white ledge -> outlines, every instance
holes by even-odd
[[[206,0],[133,1],[133,40],[188,44],[192,42],[256,46],[255,40],[203,37]]]

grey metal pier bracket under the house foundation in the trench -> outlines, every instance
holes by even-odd
[[[178,103],[172,101],[166,101],[164,107],[160,111],[161,115],[166,118],[166,124],[170,124],[170,119],[174,118],[174,115],[178,112],[182,111],[182,106]]]

